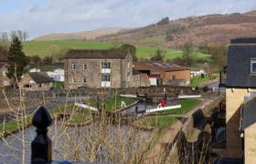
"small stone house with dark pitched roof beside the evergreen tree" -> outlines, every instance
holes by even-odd
[[[26,91],[47,91],[52,88],[52,79],[45,72],[29,72],[22,77],[19,87]]]

